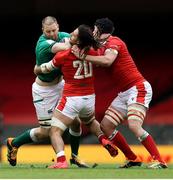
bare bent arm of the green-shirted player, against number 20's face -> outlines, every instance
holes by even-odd
[[[69,42],[69,38],[64,38],[63,42],[57,42],[52,46],[51,52],[55,54],[59,51],[67,50],[70,47],[71,47],[71,44]]]

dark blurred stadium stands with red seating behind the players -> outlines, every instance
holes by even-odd
[[[31,86],[35,75],[35,44],[41,35],[41,20],[55,16],[60,31],[72,32],[79,24],[93,25],[108,17],[114,35],[123,39],[139,70],[153,87],[153,100],[144,126],[160,145],[173,144],[173,2],[169,0],[57,1],[14,0],[0,6],[0,136],[1,145],[37,126]],[[104,77],[101,77],[104,81]],[[102,92],[96,102],[100,121],[113,91]],[[104,94],[109,94],[106,98]],[[104,98],[103,98],[104,97]],[[126,124],[119,129],[132,145],[138,145]],[[68,144],[68,137],[65,138]],[[83,127],[81,144],[97,144]]]

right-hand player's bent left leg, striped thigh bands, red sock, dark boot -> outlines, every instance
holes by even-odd
[[[116,107],[118,108],[116,109]],[[125,112],[123,109],[124,106],[119,100],[119,97],[115,98],[111,106],[105,112],[105,116],[101,121],[101,129],[111,140],[111,142],[114,143],[125,155],[127,162],[120,166],[121,168],[140,166],[141,160],[131,150],[124,136],[118,130],[116,130],[116,127],[125,119]]]

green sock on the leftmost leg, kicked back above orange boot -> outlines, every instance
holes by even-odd
[[[12,145],[15,147],[20,147],[23,144],[32,143],[33,141],[30,137],[30,131],[31,130],[27,130],[24,133],[22,133],[21,135],[14,138],[12,141]]]

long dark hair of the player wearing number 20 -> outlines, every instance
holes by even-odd
[[[78,31],[78,47],[80,49],[99,48],[99,42],[94,39],[92,29],[88,25],[80,25]]]

